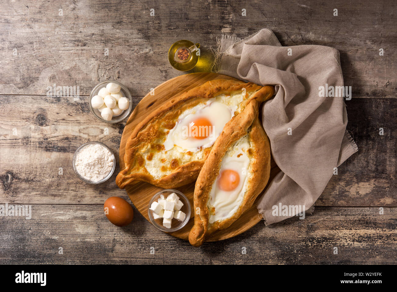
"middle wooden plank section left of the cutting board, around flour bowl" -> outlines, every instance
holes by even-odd
[[[115,183],[118,159],[114,176],[99,186],[80,181],[71,163],[77,147],[88,141],[105,143],[118,157],[125,123],[97,120],[89,110],[88,97],[74,101],[73,97],[18,95],[3,96],[1,101],[1,200],[101,203],[125,194]]]

